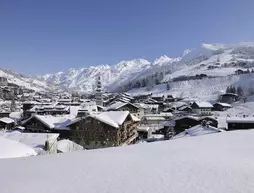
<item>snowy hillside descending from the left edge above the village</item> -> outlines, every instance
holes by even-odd
[[[0,77],[7,78],[8,83],[34,91],[56,91],[60,89],[57,85],[48,84],[47,82],[41,81],[36,77],[25,76],[7,69],[0,69]]]

